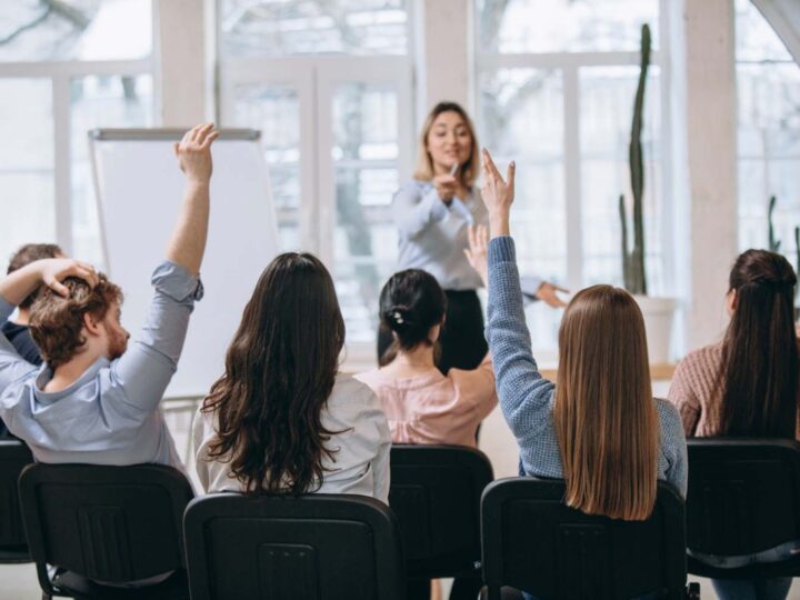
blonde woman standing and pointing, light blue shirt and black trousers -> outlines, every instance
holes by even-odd
[[[422,126],[414,179],[402,186],[392,201],[399,270],[428,271],[447,296],[437,361],[444,374],[452,367],[474,369],[487,353],[483,312],[476,293],[481,280],[464,256],[469,227],[488,222],[474,186],[479,170],[478,139],[467,111],[456,102],[439,102]],[[539,278],[526,278],[524,287],[552,307],[563,306],[556,296],[559,288]],[[379,359],[392,340],[391,330],[381,327]]]

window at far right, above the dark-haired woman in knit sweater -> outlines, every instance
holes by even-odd
[[[800,227],[800,67],[750,0],[736,3],[739,247],[768,247],[769,199],[780,251],[796,264]]]

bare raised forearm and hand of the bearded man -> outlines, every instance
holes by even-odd
[[[213,123],[197,126],[180,142],[174,153],[186,174],[186,192],[178,222],[167,246],[167,259],[192,274],[200,272],[206,251],[209,221],[209,187],[211,183],[211,142],[219,136]]]

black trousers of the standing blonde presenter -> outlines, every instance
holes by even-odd
[[[444,327],[439,336],[441,354],[437,361],[439,370],[447,374],[452,369],[474,369],[486,357],[489,346],[483,337],[483,311],[474,290],[444,290],[448,307]],[[378,357],[391,346],[391,331],[378,331]]]

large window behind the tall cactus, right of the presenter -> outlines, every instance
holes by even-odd
[[[573,291],[622,283],[619,197],[630,207],[628,146],[640,30],[649,23],[646,258],[649,292],[669,296],[659,8],[658,0],[476,0],[477,121],[481,142],[518,163],[512,218],[523,273]],[[528,319],[533,344],[554,349],[559,312],[533,304]]]

